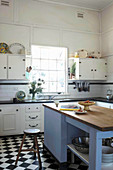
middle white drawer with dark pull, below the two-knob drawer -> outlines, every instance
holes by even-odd
[[[35,121],[35,120],[39,120],[40,119],[40,112],[37,112],[37,113],[27,113],[25,115],[25,119],[27,121]]]

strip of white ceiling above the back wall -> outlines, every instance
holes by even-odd
[[[63,3],[68,5],[79,6],[82,8],[91,8],[95,10],[102,10],[113,3],[113,0],[40,0],[52,3]]]

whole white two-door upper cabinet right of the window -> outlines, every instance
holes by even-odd
[[[75,62],[75,79],[77,80],[106,80],[107,63],[105,59],[73,58]]]

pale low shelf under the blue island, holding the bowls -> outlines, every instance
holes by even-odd
[[[89,165],[89,154],[84,154],[75,149],[75,146],[73,144],[67,145],[67,147],[75,154],[77,155],[84,163]]]

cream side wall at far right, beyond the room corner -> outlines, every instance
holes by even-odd
[[[102,56],[107,57],[107,81],[113,82],[113,5],[101,12]]]

